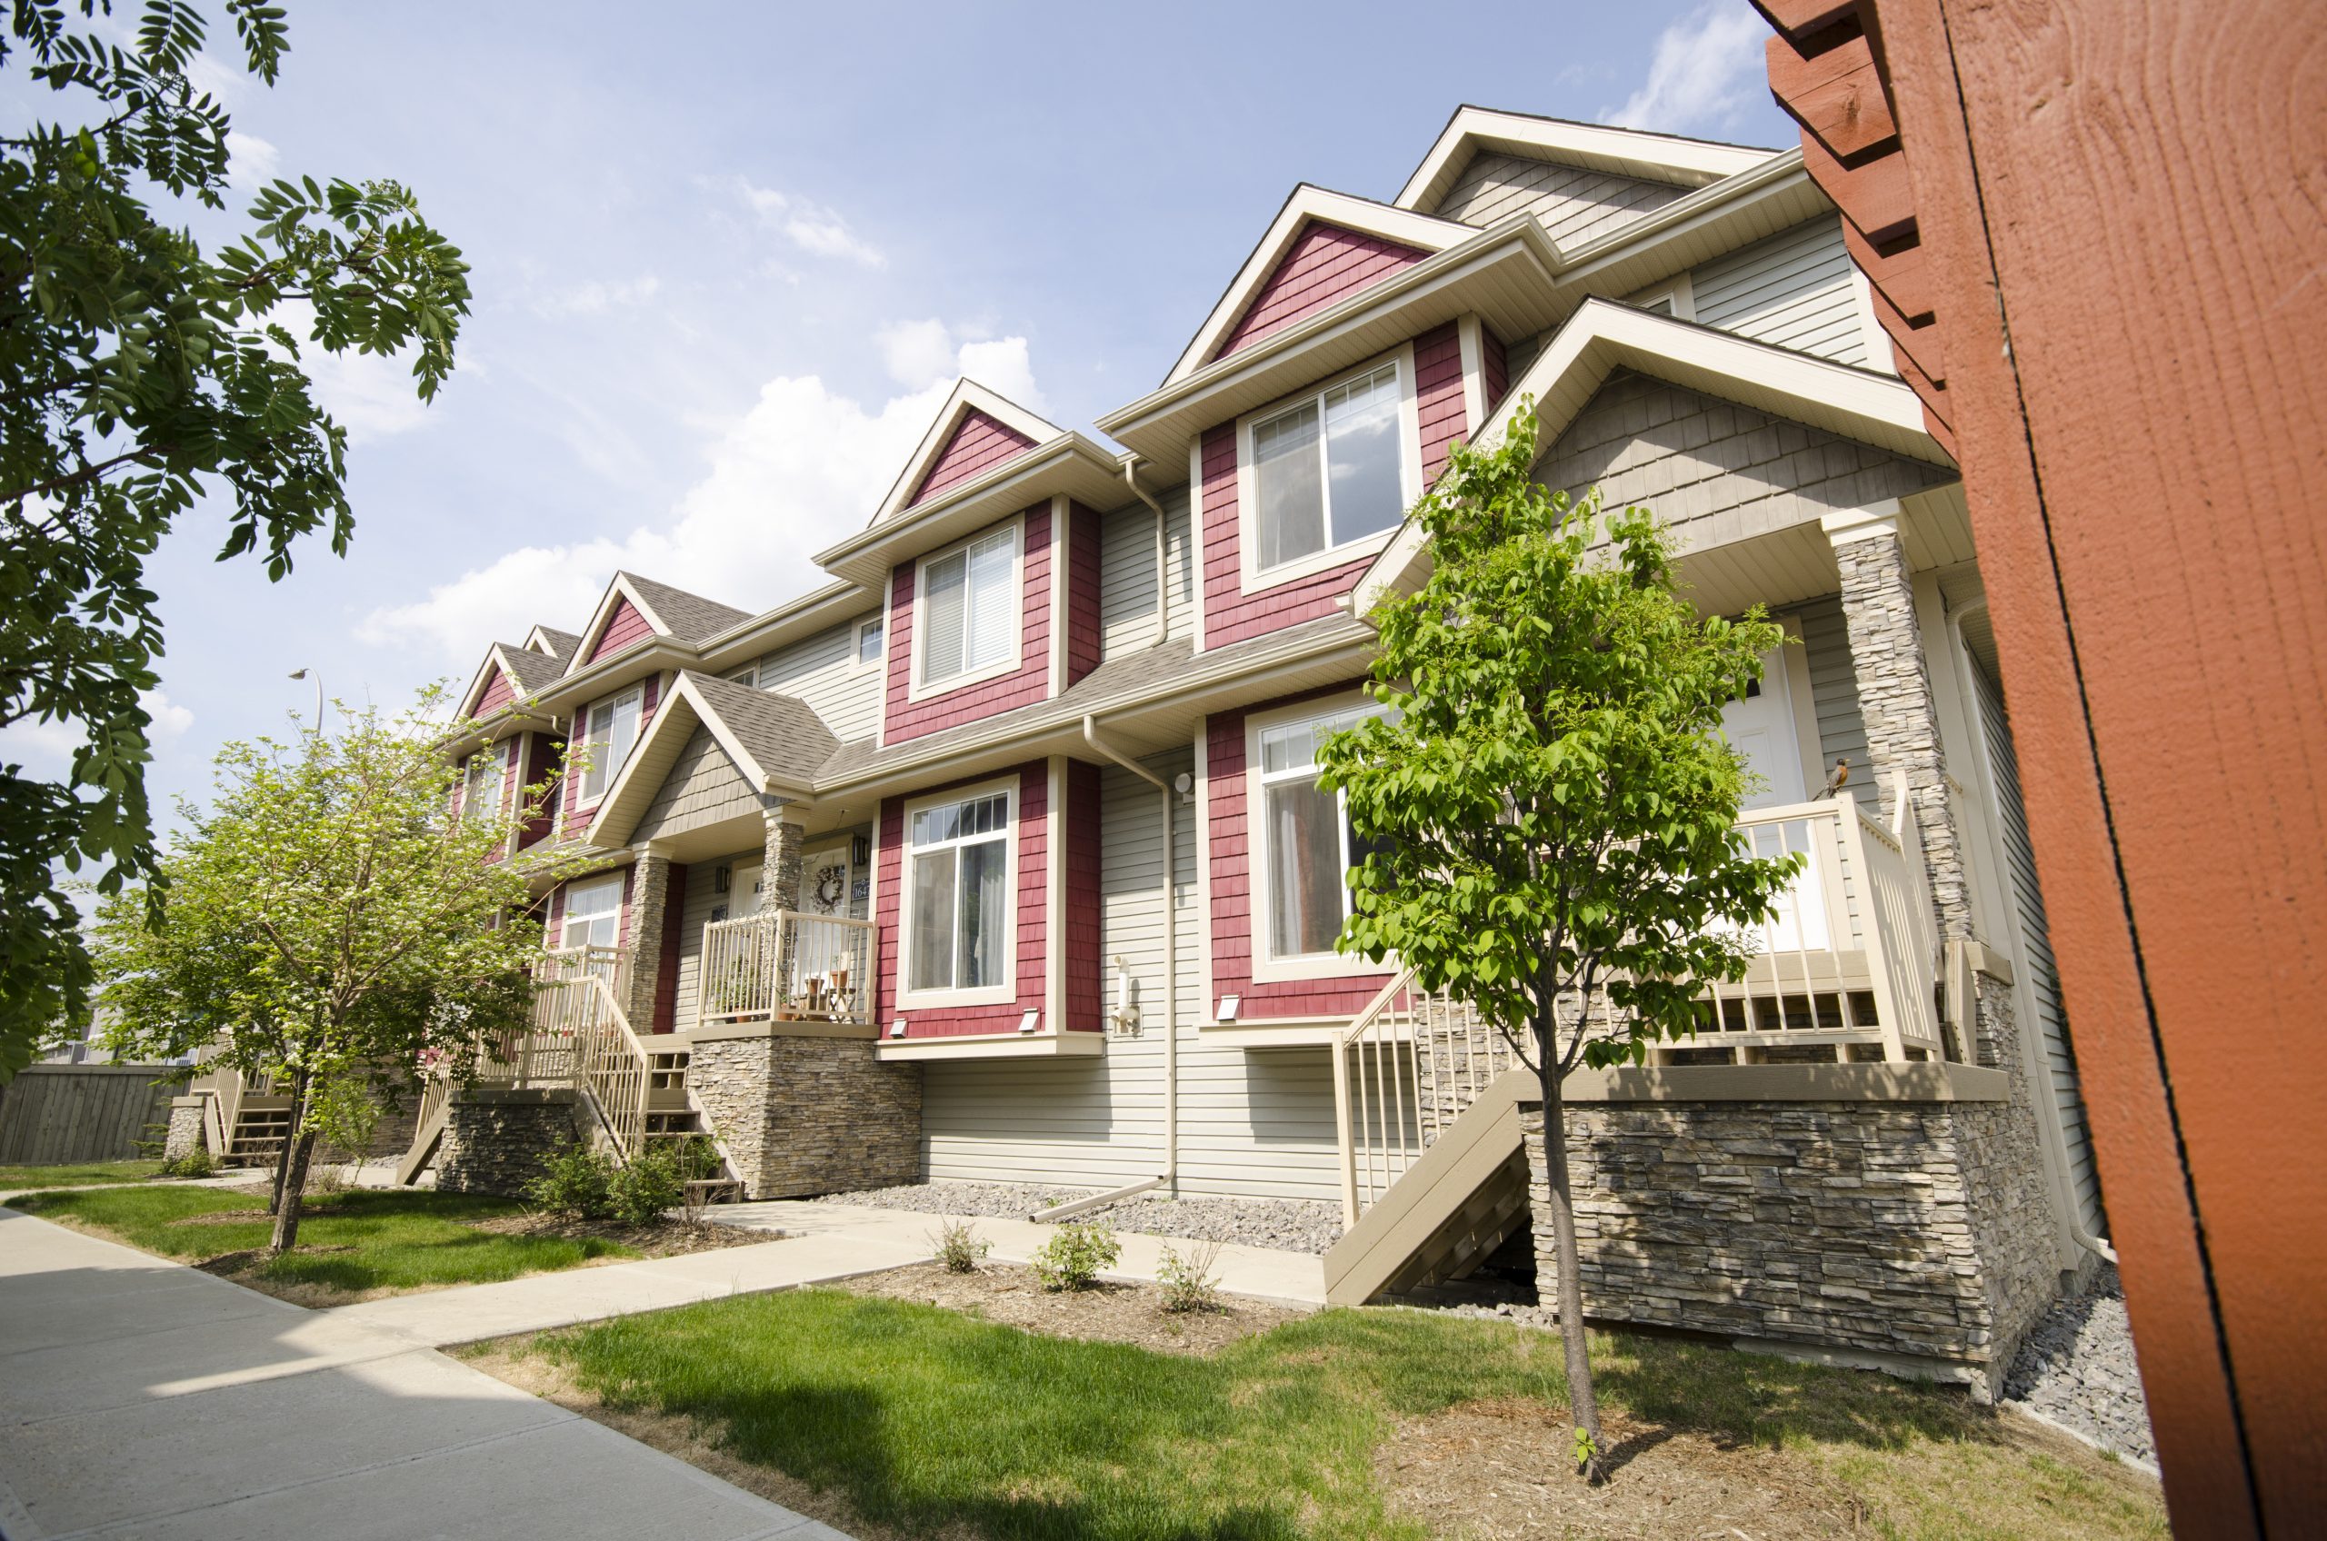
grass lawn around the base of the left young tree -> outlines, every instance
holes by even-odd
[[[195,1215],[263,1208],[251,1194],[216,1187],[88,1190],[23,1194],[9,1201],[28,1215],[67,1220],[116,1241],[186,1262],[268,1245],[272,1222],[254,1215],[212,1224],[182,1224]],[[463,1220],[514,1215],[510,1199],[468,1194],[349,1190],[309,1194],[298,1248],[272,1257],[244,1283],[321,1304],[330,1294],[412,1290],[421,1285],[484,1285],[521,1273],[572,1269],[593,1257],[638,1257],[603,1238],[500,1236]]]

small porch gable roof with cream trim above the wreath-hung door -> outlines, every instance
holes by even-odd
[[[654,722],[647,724],[631,759],[624,761],[614,784],[598,803],[584,840],[591,845],[628,843],[631,831],[654,803],[663,777],[670,775],[698,726],[710,731],[756,794],[810,796],[817,766],[840,747],[840,740],[805,701],[682,668],[670,694],[654,708]]]

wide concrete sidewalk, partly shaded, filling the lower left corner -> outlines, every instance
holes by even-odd
[[[840,1539],[405,1336],[14,1210],[0,1534]]]

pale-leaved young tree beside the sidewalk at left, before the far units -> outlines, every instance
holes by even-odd
[[[163,924],[123,889],[98,917],[107,1041],[123,1057],[207,1050],[244,1075],[291,1082],[275,1245],[298,1241],[316,1096],[393,1085],[424,1057],[475,1073],[479,1041],[526,1027],[542,931],[524,917],[528,871],[512,836],[551,784],[510,808],[454,817],[461,768],[430,691],[398,717],[365,708],[298,745],[228,745],[209,808],[161,861]]]

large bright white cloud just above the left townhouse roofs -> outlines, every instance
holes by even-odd
[[[921,333],[905,354],[915,370],[928,361],[926,345]],[[817,375],[780,375],[719,435],[710,470],[666,519],[621,538],[507,552],[424,601],[375,610],[358,635],[421,647],[433,666],[458,673],[489,642],[524,640],[535,622],[579,626],[617,568],[754,612],[805,594],[824,582],[814,554],[873,517],[956,372],[1012,400],[1040,400],[1024,338],[963,342],[940,377],[880,407],[838,396]]]

